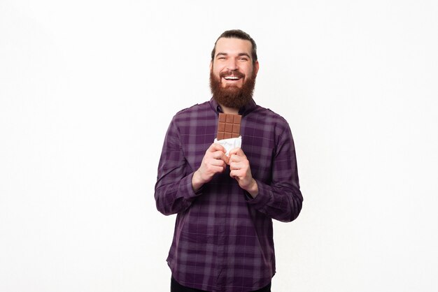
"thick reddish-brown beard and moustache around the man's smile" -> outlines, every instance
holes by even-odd
[[[256,73],[253,71],[253,75],[246,80],[242,87],[236,87],[234,85],[222,87],[222,82],[220,82],[221,78],[227,75],[234,75],[240,78],[245,77],[239,71],[234,73],[232,72],[222,72],[217,78],[213,71],[210,71],[210,89],[213,94],[213,98],[220,105],[224,105],[227,108],[243,108],[244,105],[250,102],[251,98],[253,98],[253,92],[255,87],[255,76]]]

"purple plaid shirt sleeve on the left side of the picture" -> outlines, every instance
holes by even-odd
[[[188,173],[175,117],[172,119],[162,148],[155,184],[155,202],[157,210],[170,215],[188,209],[202,189],[193,191],[193,172]]]

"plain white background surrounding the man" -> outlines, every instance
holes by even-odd
[[[234,28],[304,195],[273,291],[438,291],[432,0],[1,0],[0,291],[169,291],[162,141]]]

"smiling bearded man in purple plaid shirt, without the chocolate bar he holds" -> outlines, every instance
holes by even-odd
[[[272,219],[302,207],[288,123],[253,101],[255,41],[225,31],[211,53],[213,98],[171,121],[158,166],[155,200],[178,214],[167,263],[171,291],[271,291]],[[241,147],[213,143],[218,115],[241,115]]]

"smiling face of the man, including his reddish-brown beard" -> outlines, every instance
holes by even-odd
[[[259,68],[253,64],[252,44],[239,38],[220,38],[210,64],[213,98],[228,108],[241,108],[253,97]]]

